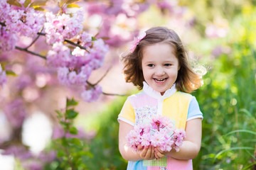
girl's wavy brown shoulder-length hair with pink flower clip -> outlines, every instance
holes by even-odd
[[[145,81],[142,72],[144,47],[160,42],[176,47],[176,57],[180,67],[176,79],[176,89],[186,93],[191,93],[198,89],[202,85],[201,75],[196,74],[188,64],[188,55],[181,39],[174,30],[165,27],[154,27],[146,30],[146,36],[140,40],[134,51],[122,56],[121,61],[124,63],[125,80],[132,82],[139,89],[143,88],[143,81]]]

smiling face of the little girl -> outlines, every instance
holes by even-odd
[[[142,55],[142,72],[146,83],[164,95],[178,77],[176,49],[167,43],[156,43],[144,47]]]

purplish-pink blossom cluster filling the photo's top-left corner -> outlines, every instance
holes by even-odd
[[[44,13],[0,1],[0,50],[14,50],[18,35],[34,37],[43,27]]]

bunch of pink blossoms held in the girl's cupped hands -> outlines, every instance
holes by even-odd
[[[151,145],[160,147],[165,152],[170,152],[171,149],[178,152],[185,137],[185,131],[175,128],[168,117],[156,115],[151,118],[149,124],[135,125],[127,134],[127,142],[134,151],[137,151],[139,145],[144,147]]]

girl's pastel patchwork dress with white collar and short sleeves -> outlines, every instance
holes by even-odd
[[[163,115],[174,121],[176,128],[186,128],[186,122],[203,118],[196,98],[176,91],[175,84],[163,96],[144,82],[143,91],[127,98],[118,120],[134,126],[149,123],[153,115]],[[193,169],[192,160],[163,157],[160,160],[128,162],[127,170],[186,170]]]

